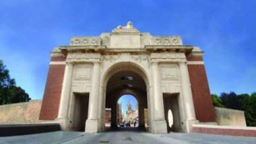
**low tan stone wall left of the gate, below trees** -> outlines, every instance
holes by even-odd
[[[41,100],[0,106],[0,124],[39,123]]]

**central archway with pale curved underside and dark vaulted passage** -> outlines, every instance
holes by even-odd
[[[102,78],[102,127],[105,130],[105,110],[111,110],[111,129],[117,128],[117,100],[124,94],[135,96],[138,102],[139,127],[149,127],[150,108],[148,107],[149,79],[146,71],[138,64],[131,62],[119,62],[110,66]],[[147,113],[145,113],[145,111]],[[145,121],[145,117],[147,121]],[[147,125],[145,125],[145,123]]]

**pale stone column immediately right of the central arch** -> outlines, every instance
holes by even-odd
[[[153,133],[167,133],[166,121],[164,120],[164,100],[160,86],[160,74],[158,62],[152,62],[152,80],[153,80]]]

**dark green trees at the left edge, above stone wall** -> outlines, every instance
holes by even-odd
[[[27,102],[28,100],[30,100],[28,94],[16,86],[15,80],[9,76],[9,70],[0,60],[0,104]]]

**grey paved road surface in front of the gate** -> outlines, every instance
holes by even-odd
[[[212,135],[202,133],[168,133],[152,134],[146,131],[139,131],[136,128],[123,128],[116,131],[88,134],[77,131],[55,131],[49,133],[38,133],[33,135],[19,135],[11,137],[0,137],[0,143],[253,143],[256,144],[256,137],[237,137],[226,135]]]

